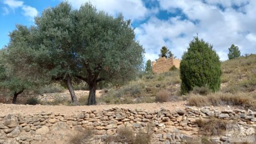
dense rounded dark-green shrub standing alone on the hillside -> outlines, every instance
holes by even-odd
[[[208,86],[217,91],[221,85],[221,62],[217,53],[208,42],[198,36],[182,55],[180,62],[181,92],[192,91],[193,87]]]

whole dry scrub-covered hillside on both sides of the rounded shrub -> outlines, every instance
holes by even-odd
[[[256,54],[240,57],[233,60],[223,61],[221,90],[210,93],[208,90],[195,90],[192,93],[200,94],[206,91],[209,95],[243,96],[256,98]],[[104,93],[98,102],[106,104],[121,103],[152,103],[164,101],[186,100],[191,95],[180,95],[179,70],[169,71],[161,74],[143,74],[140,78],[130,83],[115,87]]]

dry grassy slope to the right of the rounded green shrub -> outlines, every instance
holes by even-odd
[[[256,54],[222,62],[222,92],[252,92],[256,90]]]

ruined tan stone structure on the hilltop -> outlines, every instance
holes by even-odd
[[[180,60],[174,59],[173,57],[167,59],[166,57],[162,57],[152,62],[152,71],[154,73],[168,72],[173,66],[180,68]]]

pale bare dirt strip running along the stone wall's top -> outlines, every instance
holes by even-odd
[[[159,110],[161,108],[174,111],[175,109],[185,109],[185,101],[181,102],[168,102],[168,103],[141,103],[141,104],[112,104],[112,105],[91,105],[91,106],[65,106],[65,105],[15,105],[15,104],[2,104],[0,103],[0,116],[7,114],[38,114],[39,112],[53,112],[71,115],[83,110],[102,110],[107,108],[142,108],[149,111]]]

